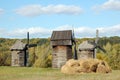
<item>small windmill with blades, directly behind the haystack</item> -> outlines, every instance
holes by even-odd
[[[98,45],[99,37],[98,30],[96,30],[96,39],[95,41],[83,41],[78,46],[78,59],[81,58],[96,58],[97,49],[106,52],[101,46]]]

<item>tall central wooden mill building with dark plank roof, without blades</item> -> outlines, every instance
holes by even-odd
[[[61,68],[72,58],[72,42],[72,30],[53,31],[51,36],[53,68]]]

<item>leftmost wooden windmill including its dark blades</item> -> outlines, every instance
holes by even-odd
[[[29,44],[29,32],[27,33],[27,43],[23,43],[21,40],[17,40],[15,44],[10,48],[11,50],[11,66],[27,66],[29,48],[35,47],[37,44]]]

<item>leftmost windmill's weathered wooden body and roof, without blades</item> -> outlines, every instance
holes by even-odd
[[[10,48],[11,50],[11,66],[26,66],[26,44],[18,40],[15,44]]]

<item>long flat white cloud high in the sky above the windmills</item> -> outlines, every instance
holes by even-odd
[[[17,14],[23,16],[39,16],[43,14],[71,14],[77,15],[83,12],[83,10],[74,5],[48,5],[48,6],[41,6],[41,5],[28,5],[23,6],[19,9],[16,9],[15,12]]]

